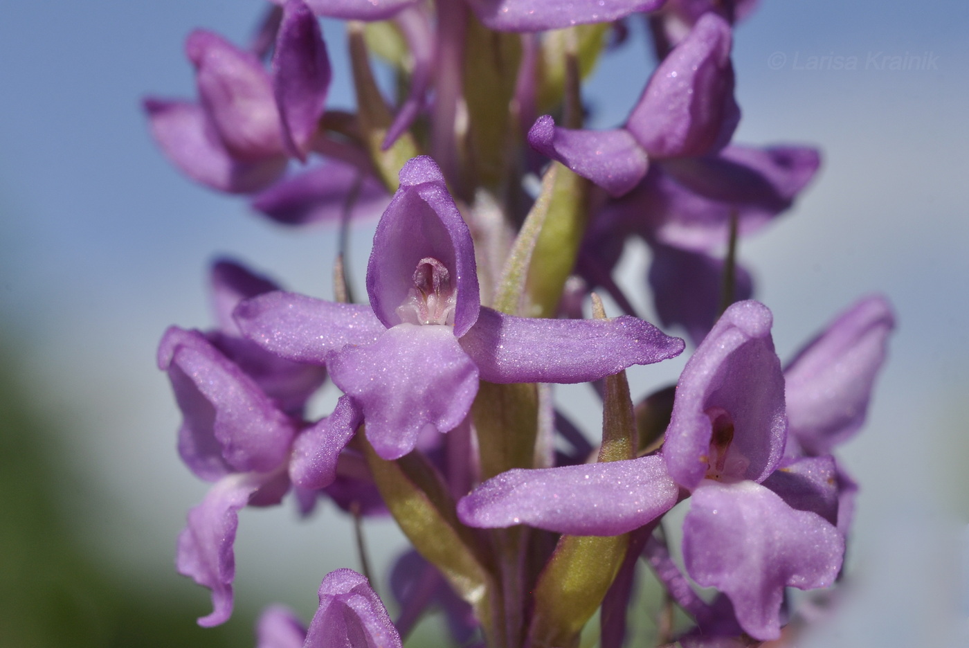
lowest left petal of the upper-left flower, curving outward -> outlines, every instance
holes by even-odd
[[[162,152],[190,178],[212,189],[234,194],[259,191],[286,170],[282,155],[253,162],[234,159],[198,104],[146,99],[144,110]]]

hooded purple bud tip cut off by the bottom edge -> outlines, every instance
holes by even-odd
[[[401,648],[387,608],[356,571],[330,571],[319,595],[304,648]]]

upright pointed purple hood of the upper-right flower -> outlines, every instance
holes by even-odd
[[[724,146],[739,121],[731,28],[706,14],[656,68],[626,128],[651,158],[704,155]]]

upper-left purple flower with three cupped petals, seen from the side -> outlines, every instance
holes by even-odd
[[[250,193],[305,160],[330,80],[317,19],[301,0],[283,5],[272,75],[259,58],[211,32],[189,35],[199,103],[147,99],[151,131],[174,165],[219,191]]]

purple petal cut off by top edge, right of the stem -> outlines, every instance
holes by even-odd
[[[489,29],[537,32],[589,22],[611,22],[636,12],[651,12],[665,0],[470,0]]]

